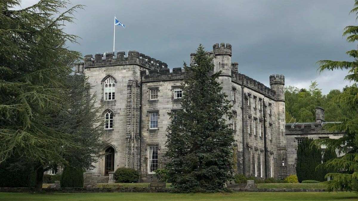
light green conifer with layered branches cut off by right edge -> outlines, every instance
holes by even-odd
[[[350,13],[358,14],[358,0],[355,0],[354,8]],[[357,17],[358,19],[358,17]],[[353,43],[358,40],[358,26],[347,26],[343,36],[347,36],[347,41]],[[337,103],[349,109],[350,117],[340,118],[341,123],[327,124],[329,131],[343,131],[346,135],[339,139],[319,139],[315,144],[325,144],[327,148],[338,149],[340,153],[347,153],[342,157],[329,160],[323,163],[327,168],[334,168],[338,173],[328,173],[326,177],[332,180],[327,182],[329,191],[348,190],[358,192],[358,50],[346,52],[353,61],[332,61],[320,60],[320,71],[348,69],[346,80],[353,82],[349,87],[345,87],[342,94],[336,98]]]

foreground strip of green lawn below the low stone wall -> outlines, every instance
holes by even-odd
[[[135,201],[135,200],[357,200],[351,192],[234,192],[234,193],[0,193],[0,201]]]

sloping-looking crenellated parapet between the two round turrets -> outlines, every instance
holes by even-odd
[[[254,80],[244,74],[237,73],[234,71],[232,71],[231,75],[232,75],[232,82],[241,84],[247,88],[250,88],[250,89],[255,90],[261,94],[264,94],[267,97],[270,97],[274,100],[276,99],[276,91],[269,87],[266,87],[261,82],[258,82],[257,80]]]

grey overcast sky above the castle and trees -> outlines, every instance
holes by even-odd
[[[27,7],[37,0],[24,0]],[[232,45],[232,62],[239,72],[269,86],[269,75],[284,74],[286,85],[308,88],[317,80],[323,93],[342,89],[347,72],[319,73],[322,59],[351,60],[356,48],[342,37],[356,24],[349,11],[353,0],[72,0],[86,5],[66,31],[80,36],[69,48],[83,55],[113,49],[114,15],[126,28],[116,27],[116,50],[136,50],[182,67],[199,43],[212,51],[214,43]]]

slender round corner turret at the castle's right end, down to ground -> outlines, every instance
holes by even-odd
[[[272,112],[275,112],[278,117],[277,122],[277,170],[278,177],[284,178],[287,176],[287,147],[286,147],[286,111],[285,111],[285,76],[284,75],[270,75],[271,89],[276,91],[276,106]]]

